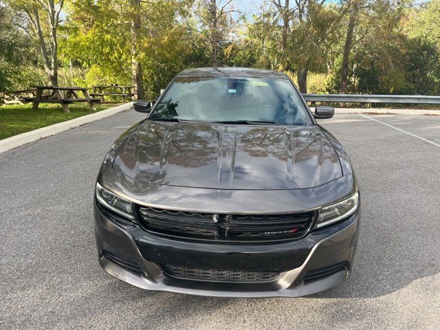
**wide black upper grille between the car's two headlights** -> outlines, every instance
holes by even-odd
[[[270,241],[304,236],[314,212],[294,214],[210,214],[140,207],[143,227],[157,234],[223,241]]]

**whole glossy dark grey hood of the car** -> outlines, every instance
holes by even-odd
[[[254,126],[145,120],[113,168],[153,184],[212,189],[313,188],[342,176],[318,126]]]

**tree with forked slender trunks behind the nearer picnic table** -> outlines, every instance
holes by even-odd
[[[7,3],[22,15],[21,28],[38,41],[50,83],[58,85],[58,27],[64,0],[10,0]]]

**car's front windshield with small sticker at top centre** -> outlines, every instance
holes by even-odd
[[[177,77],[148,119],[307,126],[312,121],[287,79]]]

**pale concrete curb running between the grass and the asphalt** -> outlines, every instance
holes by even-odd
[[[133,102],[121,104],[117,107],[98,111],[89,115],[83,115],[79,118],[67,120],[65,122],[58,122],[58,124],[45,126],[41,129],[34,129],[34,131],[29,131],[21,133],[19,135],[8,137],[4,140],[0,140],[0,153],[3,153],[13,148],[17,148],[17,146],[22,146],[23,144],[27,144],[29,142],[40,140],[43,137],[67,131],[68,129],[73,129],[74,127],[87,124],[88,122],[94,122],[95,120],[109,117],[110,115],[114,115],[115,113],[128,110],[131,107],[133,107]]]

